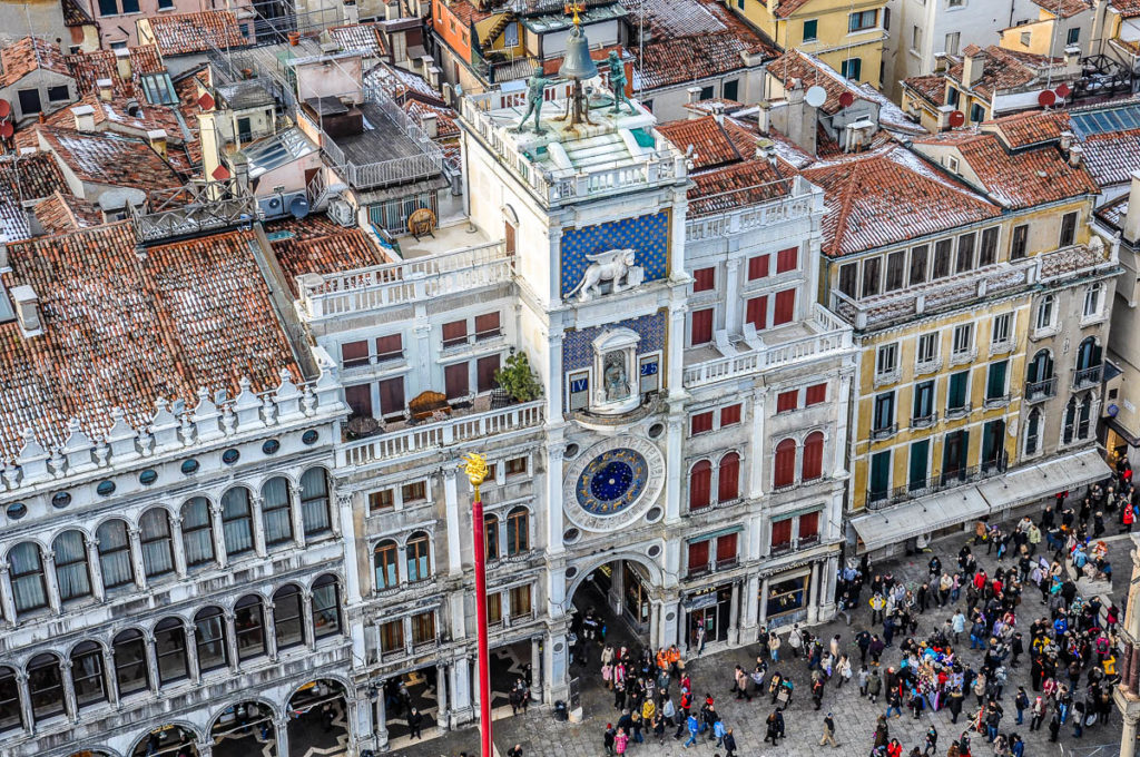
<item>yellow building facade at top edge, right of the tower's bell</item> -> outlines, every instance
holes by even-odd
[[[842,75],[882,86],[889,15],[882,0],[728,0],[781,49],[809,52]]]

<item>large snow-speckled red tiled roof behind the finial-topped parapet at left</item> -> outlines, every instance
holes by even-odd
[[[0,456],[17,454],[25,429],[58,445],[76,418],[98,438],[115,407],[140,428],[158,397],[233,397],[242,376],[266,391],[282,368],[300,380],[252,241],[230,233],[138,255],[124,221],[10,245],[3,283],[35,291],[43,333],[0,324]]]

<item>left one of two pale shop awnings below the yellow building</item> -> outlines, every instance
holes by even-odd
[[[888,544],[966,523],[988,512],[990,505],[977,488],[963,486],[858,515],[850,523],[863,543],[860,552],[873,552]]]

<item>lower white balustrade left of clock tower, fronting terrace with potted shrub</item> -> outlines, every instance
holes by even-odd
[[[447,421],[426,421],[409,429],[347,442],[336,450],[336,465],[368,465],[393,457],[430,453],[451,445],[534,429],[543,424],[545,400],[472,413]]]

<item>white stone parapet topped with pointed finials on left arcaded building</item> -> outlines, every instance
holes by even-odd
[[[314,418],[331,421],[345,414],[343,390],[336,365],[321,348],[315,348],[320,376],[315,382],[296,384],[282,369],[276,389],[254,392],[243,377],[241,393],[234,399],[214,401],[202,388],[193,407],[160,397],[155,414],[140,428],[132,426],[121,408],[112,410],[106,433],[92,438],[78,420],[68,423],[63,443],[46,443],[28,429],[24,445],[10,464],[0,463],[0,491],[31,489],[41,483],[52,487],[71,478],[113,466],[154,464],[156,458],[177,458],[197,446],[264,434],[268,429],[287,426]]]

